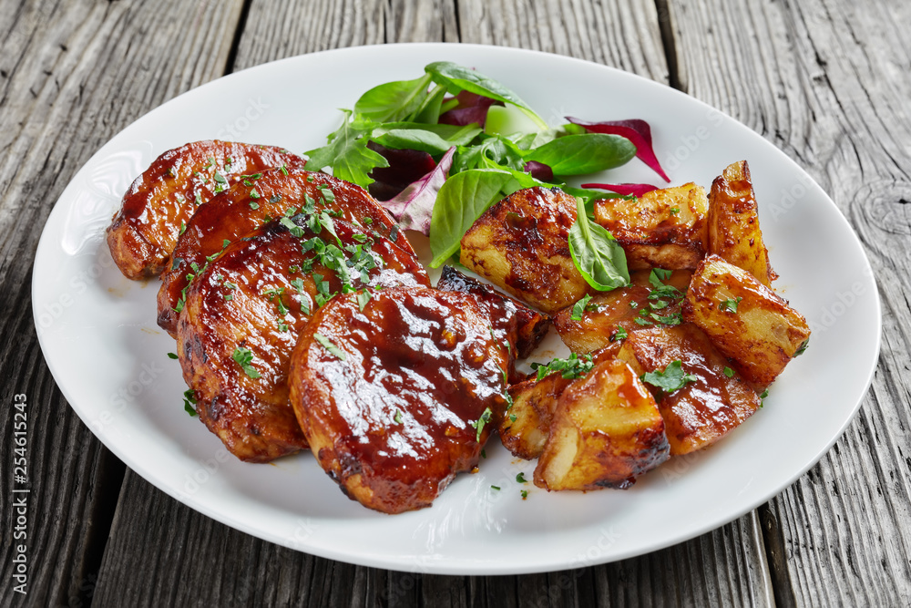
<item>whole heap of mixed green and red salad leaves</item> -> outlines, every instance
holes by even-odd
[[[368,189],[403,229],[428,235],[432,267],[458,252],[465,232],[496,201],[524,188],[558,186],[578,201],[569,248],[579,272],[596,289],[614,289],[630,281],[626,256],[592,221],[591,201],[635,198],[655,187],[575,188],[565,179],[637,156],[670,181],[644,120],[567,118],[550,127],[496,80],[447,61],[428,64],[414,80],[371,88],[353,110],[342,111],[343,124],[327,144],[307,152],[309,165]]]

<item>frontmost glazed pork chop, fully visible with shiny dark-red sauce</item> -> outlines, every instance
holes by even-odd
[[[328,345],[328,346],[327,346]],[[505,407],[507,349],[471,294],[398,288],[335,298],[304,329],[291,401],[320,465],[385,513],[427,507]],[[486,408],[494,413],[476,429]]]

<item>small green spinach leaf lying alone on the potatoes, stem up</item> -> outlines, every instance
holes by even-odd
[[[569,230],[569,253],[578,272],[602,292],[630,283],[623,248],[610,232],[589,220],[582,199],[576,199],[576,205],[576,222]]]

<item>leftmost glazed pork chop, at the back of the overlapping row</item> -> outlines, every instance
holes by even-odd
[[[169,149],[140,175],[107,228],[107,246],[130,279],[157,276],[197,205],[270,167],[303,167],[306,160],[273,146],[194,141]]]

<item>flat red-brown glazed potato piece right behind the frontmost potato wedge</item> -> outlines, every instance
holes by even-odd
[[[705,448],[740,426],[761,405],[752,387],[711,345],[696,325],[661,326],[630,334],[618,358],[630,364],[638,376],[667,373],[675,361],[687,376],[672,392],[652,386],[670,454],[678,456]],[[730,374],[730,376],[729,376]]]

